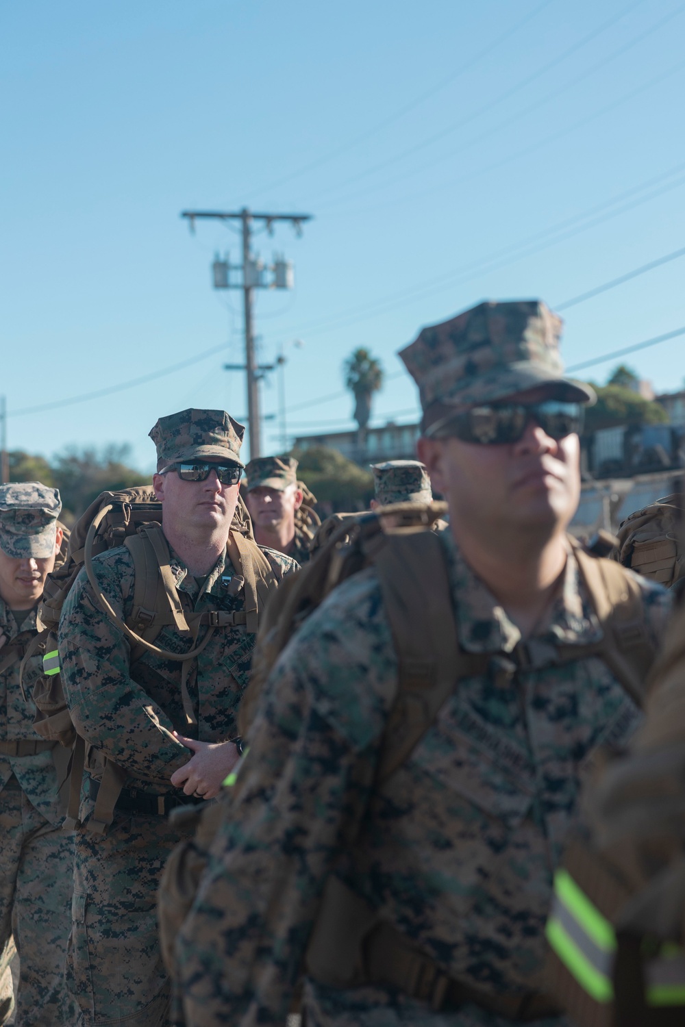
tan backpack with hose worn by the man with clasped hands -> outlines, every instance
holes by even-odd
[[[160,519],[161,503],[150,489],[140,487],[103,492],[79,518],[71,533],[67,559],[48,575],[45,583],[38,611],[41,631],[31,650],[36,651],[42,646],[45,653],[43,676],[37,680],[33,692],[37,710],[34,727],[44,738],[73,747],[69,809],[65,821],[68,829],[79,826],[80,785],[87,744],[77,735],[69,714],[62,685],[56,636],[62,608],[81,569],[85,568],[104,613],[130,642],[131,665],[146,651],[183,663],[181,689],[188,723],[194,722],[187,688],[190,661],[202,651],[219,629],[244,624],[248,632],[256,633],[260,613],[275,585],[271,566],[255,542],[250,516],[239,499],[228,542],[229,556],[236,571],[229,592],[243,589],[245,609],[230,613],[184,610],[170,571],[169,550]],[[125,545],[129,550],[135,568],[132,610],[125,621],[103,594],[92,563],[94,556],[118,545]],[[193,640],[195,644],[188,652],[175,653],[155,645],[155,639],[167,624],[174,624],[181,635]],[[204,629],[204,634],[198,642],[200,629]],[[124,778],[122,768],[105,759],[96,809],[87,825],[89,831],[107,831]]]

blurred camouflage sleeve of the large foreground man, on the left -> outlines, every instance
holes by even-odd
[[[326,878],[364,816],[396,661],[377,583],[346,585],[276,663],[223,799],[177,948],[198,1027],[284,1023]]]

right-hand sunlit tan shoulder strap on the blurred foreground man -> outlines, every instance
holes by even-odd
[[[640,585],[616,561],[596,557],[575,541],[572,545],[603,633],[597,646],[587,647],[587,654],[603,659],[631,698],[642,706],[655,649],[647,633]],[[578,659],[583,651],[568,646],[563,655]]]

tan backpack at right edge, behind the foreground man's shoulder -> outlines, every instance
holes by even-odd
[[[682,517],[682,495],[678,492],[631,514],[618,529],[619,563],[667,588],[685,577]]]

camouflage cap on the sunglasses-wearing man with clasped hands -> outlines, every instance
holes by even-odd
[[[244,467],[240,460],[244,433],[244,425],[225,410],[182,410],[160,417],[150,439],[157,447],[157,460],[164,463],[222,459]]]

